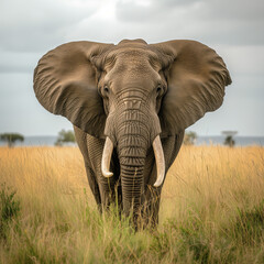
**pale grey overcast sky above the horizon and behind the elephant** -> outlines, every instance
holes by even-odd
[[[72,129],[33,92],[33,70],[47,51],[70,41],[117,44],[188,38],[222,56],[233,84],[223,106],[189,128],[264,135],[263,0],[1,0],[0,133],[56,135]]]

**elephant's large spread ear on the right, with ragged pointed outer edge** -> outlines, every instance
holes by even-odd
[[[231,84],[222,58],[195,41],[169,41],[153,45],[162,54],[168,89],[163,98],[160,120],[163,135],[184,131],[223,101]]]

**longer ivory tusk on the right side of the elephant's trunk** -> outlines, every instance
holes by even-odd
[[[162,185],[165,176],[165,160],[164,160],[164,153],[162,147],[162,142],[160,135],[156,136],[156,139],[152,143],[155,160],[156,160],[156,169],[157,169],[157,179],[154,184],[155,187],[158,187]]]

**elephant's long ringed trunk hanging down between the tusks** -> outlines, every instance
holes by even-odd
[[[116,122],[117,150],[120,163],[123,209],[125,215],[136,215],[144,202],[144,167],[147,150],[160,122],[138,100],[127,101]],[[157,123],[156,123],[157,121]]]

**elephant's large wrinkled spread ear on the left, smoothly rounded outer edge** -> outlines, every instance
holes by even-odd
[[[97,88],[98,69],[91,61],[110,46],[92,42],[61,45],[45,54],[34,72],[40,103],[97,138],[103,138],[106,113]]]

